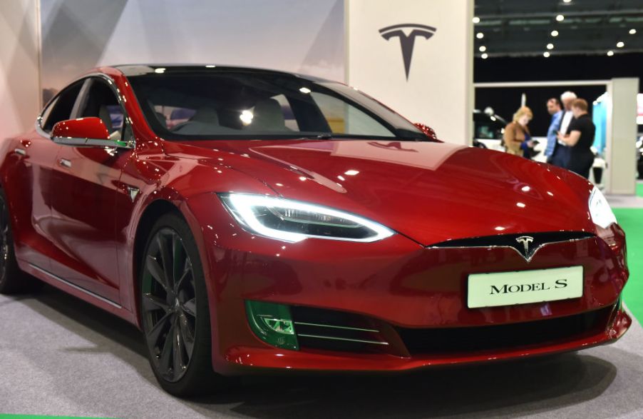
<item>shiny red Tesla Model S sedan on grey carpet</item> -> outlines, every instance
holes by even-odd
[[[174,108],[193,114],[167,128]],[[96,69],[1,143],[0,291],[35,276],[138,325],[177,395],[620,338],[625,238],[600,191],[430,134],[307,76]]]

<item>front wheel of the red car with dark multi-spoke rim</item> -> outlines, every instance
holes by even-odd
[[[205,277],[194,237],[177,214],[154,224],[139,280],[143,339],[158,383],[179,397],[213,393],[223,378],[212,370]]]

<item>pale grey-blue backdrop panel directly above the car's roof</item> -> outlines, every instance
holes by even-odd
[[[41,20],[43,89],[96,66],[142,63],[344,80],[344,0],[41,0]]]

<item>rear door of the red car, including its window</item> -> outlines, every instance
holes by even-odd
[[[14,219],[16,257],[44,271],[50,271],[50,256],[56,251],[51,238],[51,185],[61,148],[51,141],[49,132],[71,116],[82,84],[71,84],[56,95],[38,117],[36,128],[16,138],[10,150],[16,161],[4,189]]]

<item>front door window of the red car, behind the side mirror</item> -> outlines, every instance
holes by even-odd
[[[78,117],[93,116],[101,118],[110,139],[120,141],[123,128],[123,108],[118,104],[114,91],[102,79],[92,79],[91,85],[83,98]]]

